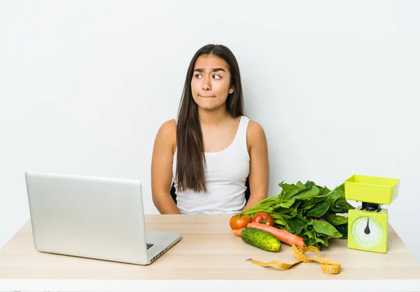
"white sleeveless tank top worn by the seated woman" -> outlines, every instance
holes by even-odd
[[[249,154],[246,147],[246,128],[249,119],[241,116],[235,139],[223,151],[205,152],[207,193],[184,190],[176,184],[176,151],[172,173],[176,202],[181,214],[236,214],[245,206],[245,182],[249,174]]]

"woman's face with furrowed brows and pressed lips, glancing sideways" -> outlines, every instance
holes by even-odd
[[[194,101],[202,109],[216,109],[225,104],[230,86],[230,71],[225,60],[214,55],[201,55],[194,65],[191,90]]]

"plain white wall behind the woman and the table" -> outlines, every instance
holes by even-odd
[[[26,170],[140,179],[195,51],[221,43],[278,183],[395,177],[420,241],[418,1],[1,1],[0,246],[29,219]],[[356,204],[356,202],[352,202]]]

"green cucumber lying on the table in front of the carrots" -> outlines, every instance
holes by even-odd
[[[245,228],[241,231],[241,239],[247,244],[259,247],[265,251],[279,251],[281,249],[280,240],[264,230]]]

